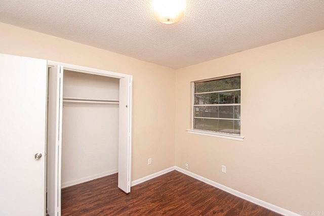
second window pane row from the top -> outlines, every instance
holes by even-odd
[[[194,97],[194,104],[239,104],[241,103],[240,93],[241,91],[197,94]]]

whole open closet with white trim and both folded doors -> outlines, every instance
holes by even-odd
[[[52,66],[53,65],[53,66]],[[47,210],[61,215],[61,189],[118,172],[130,192],[132,76],[49,64]]]

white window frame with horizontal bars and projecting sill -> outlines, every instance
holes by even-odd
[[[200,129],[195,129],[193,128],[194,126],[194,118],[199,118],[199,117],[194,117],[193,111],[195,107],[199,107],[199,106],[206,106],[204,105],[195,105],[194,104],[194,98],[195,98],[195,83],[196,82],[201,82],[201,81],[211,81],[211,80],[217,80],[217,79],[222,79],[222,78],[229,78],[229,77],[234,77],[234,76],[240,76],[240,74],[232,74],[232,75],[228,75],[228,76],[221,76],[221,77],[215,77],[215,78],[211,78],[211,79],[203,79],[203,80],[197,80],[197,81],[192,81],[191,82],[191,100],[190,100],[190,129],[187,129],[186,131],[189,134],[196,134],[196,135],[203,135],[203,136],[209,136],[209,137],[217,137],[217,138],[224,138],[224,139],[229,139],[229,140],[237,140],[237,141],[243,141],[244,137],[241,136],[241,134],[236,135],[236,134],[228,134],[228,133],[221,133],[221,132],[213,132],[213,131],[204,131],[204,130],[200,130]],[[241,89],[235,89],[235,90],[225,90],[225,91],[215,91],[215,92],[208,92],[208,94],[210,93],[219,93],[219,92],[231,92],[231,91],[240,91]],[[199,94],[207,94],[207,93],[199,93]],[[218,105],[209,105],[209,106],[228,106],[228,104],[218,104]],[[231,106],[235,106],[235,105],[240,105],[239,104],[230,104]],[[208,117],[204,117],[205,119]],[[224,118],[213,118],[213,119],[224,119]],[[225,119],[226,120],[226,119]],[[230,119],[230,120],[241,120],[239,119]]]

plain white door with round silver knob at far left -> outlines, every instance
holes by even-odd
[[[46,74],[46,60],[0,54],[2,216],[45,215]]]

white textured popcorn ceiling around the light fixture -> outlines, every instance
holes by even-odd
[[[324,29],[323,0],[187,0],[171,25],[150,8],[150,0],[0,0],[0,22],[171,68]]]

